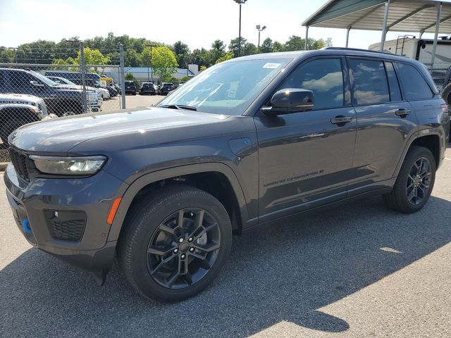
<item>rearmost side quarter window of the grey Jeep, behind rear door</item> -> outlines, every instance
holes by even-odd
[[[431,99],[431,88],[413,65],[397,63],[396,67],[407,100]]]

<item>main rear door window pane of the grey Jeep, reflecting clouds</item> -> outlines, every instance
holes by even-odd
[[[382,61],[351,58],[350,77],[354,79],[356,104],[384,104],[390,101],[387,75]]]

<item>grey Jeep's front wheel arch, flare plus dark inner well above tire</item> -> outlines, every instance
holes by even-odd
[[[199,177],[205,178],[205,175],[207,176],[207,179],[202,180],[202,184],[193,184],[193,182],[199,182]],[[216,180],[214,184],[211,184],[211,179],[213,177],[216,177],[218,180]],[[121,204],[119,205],[116,216],[111,224],[107,241],[111,242],[118,240],[128,211],[140,196],[145,196],[145,194],[154,192],[159,187],[166,185],[168,181],[171,182],[171,184],[179,183],[198,187],[215,196],[228,211],[235,232],[239,232],[242,225],[245,225],[247,220],[249,220],[245,194],[242,191],[242,187],[237,180],[235,173],[233,173],[233,170],[228,165],[223,163],[182,165],[180,167],[147,173],[130,184],[122,196]],[[218,187],[218,184],[227,184],[225,186],[226,190],[221,191],[223,194],[211,191],[212,188]],[[230,197],[233,197],[235,201],[230,201]]]

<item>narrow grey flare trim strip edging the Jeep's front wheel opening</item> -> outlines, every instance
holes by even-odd
[[[154,182],[165,180],[171,177],[177,177],[182,175],[190,175],[194,173],[207,173],[207,172],[217,172],[225,175],[230,182],[230,185],[235,192],[235,196],[238,201],[238,205],[240,207],[240,215],[242,224],[245,225],[249,220],[248,212],[247,212],[247,202],[245,200],[245,194],[242,191],[242,187],[240,182],[238,181],[233,170],[224,163],[214,162],[214,163],[196,163],[191,165],[180,165],[178,167],[163,169],[154,171],[152,173],[147,173],[137,178],[128,189],[123,194],[121,204],[116,211],[116,217],[111,224],[111,229],[109,232],[109,236],[107,241],[117,241],[119,234],[121,233],[122,225],[125,220],[125,216],[128,213],[128,209],[130,208],[133,199],[138,192],[144,187]]]

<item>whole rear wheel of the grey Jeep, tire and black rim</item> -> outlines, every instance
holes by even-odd
[[[383,199],[390,208],[402,213],[419,211],[431,196],[435,182],[435,159],[422,146],[412,146],[407,153],[395,186]]]

